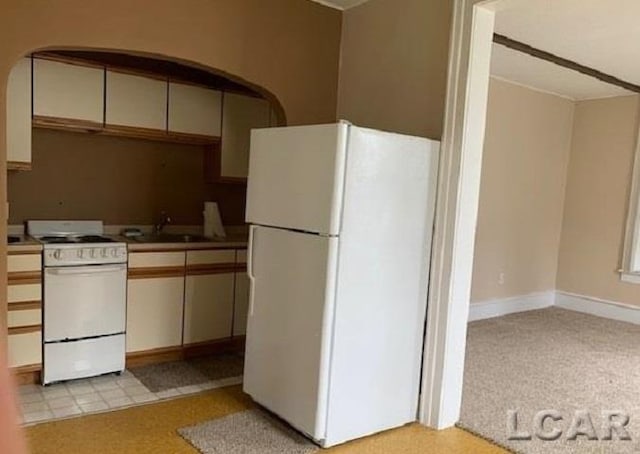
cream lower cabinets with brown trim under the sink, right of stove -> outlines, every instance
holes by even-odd
[[[127,352],[243,336],[249,280],[239,267],[245,263],[244,249],[130,252]],[[153,276],[159,272],[174,275]]]

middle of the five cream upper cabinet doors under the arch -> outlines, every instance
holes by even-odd
[[[167,81],[107,71],[105,123],[165,131]]]

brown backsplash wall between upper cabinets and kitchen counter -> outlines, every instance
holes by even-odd
[[[246,185],[206,184],[206,147],[72,132],[33,130],[33,170],[9,172],[9,222],[102,219],[201,225],[215,200],[226,224],[244,221]]]

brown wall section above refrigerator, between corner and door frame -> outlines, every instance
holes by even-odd
[[[347,10],[338,117],[439,139],[452,5],[443,0],[370,0]]]

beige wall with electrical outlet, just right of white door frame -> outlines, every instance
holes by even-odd
[[[570,100],[491,79],[473,302],[555,288],[573,111]]]

